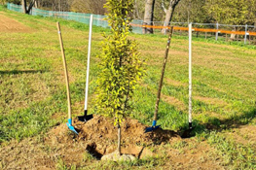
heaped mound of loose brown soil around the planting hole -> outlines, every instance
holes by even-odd
[[[117,127],[113,125],[113,119],[103,116],[93,116],[93,119],[82,122],[74,119],[73,126],[79,132],[75,135],[68,130],[65,124],[55,127],[49,134],[47,141],[58,143],[81,143],[86,150],[97,158],[102,155],[113,153],[117,148]],[[147,126],[136,119],[126,119],[121,126],[122,151],[121,153],[132,154],[138,158],[152,154],[145,149],[149,145],[161,145],[171,140],[180,139],[176,132],[158,128],[152,132],[145,133]],[[69,133],[69,135],[67,135]],[[51,139],[52,138],[52,139]],[[55,143],[54,142],[54,143]]]

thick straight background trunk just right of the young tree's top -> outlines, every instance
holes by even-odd
[[[155,6],[155,0],[147,0],[146,1],[143,25],[152,25],[153,26],[154,6]],[[152,34],[152,33],[153,33],[153,28],[145,27],[143,29],[143,34]]]

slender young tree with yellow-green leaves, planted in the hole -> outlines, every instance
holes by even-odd
[[[115,118],[118,127],[118,153],[121,154],[121,122],[130,113],[130,99],[143,68],[138,58],[137,44],[128,40],[131,30],[129,13],[133,0],[107,0],[107,20],[111,34],[104,34],[99,56],[101,71],[96,88],[98,113]]]

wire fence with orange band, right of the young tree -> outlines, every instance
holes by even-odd
[[[188,22],[171,22],[175,34],[188,35]],[[151,27],[154,33],[166,33],[169,26],[164,22],[153,22],[142,27]],[[164,31],[163,31],[164,30]],[[256,44],[256,27],[254,25],[228,25],[220,23],[193,23],[193,36],[224,41],[242,41],[244,44]]]

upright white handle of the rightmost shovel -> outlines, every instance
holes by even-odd
[[[189,24],[189,128],[192,129],[192,23]]]

